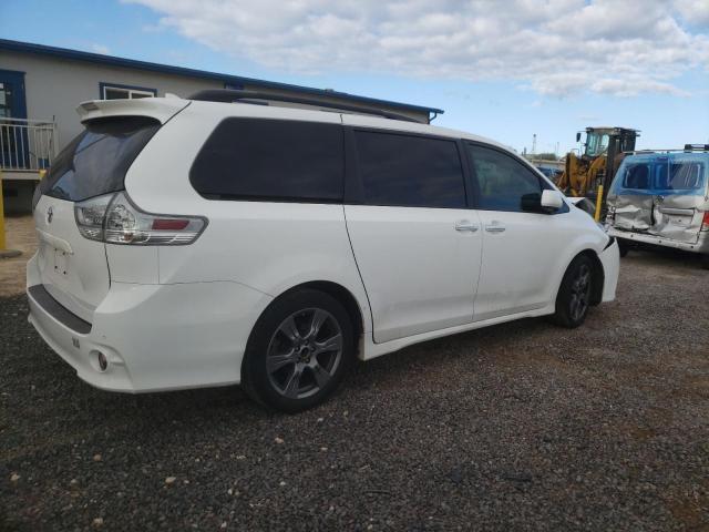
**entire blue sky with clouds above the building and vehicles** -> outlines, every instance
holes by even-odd
[[[0,38],[439,108],[520,152],[709,143],[709,0],[0,0]]]

